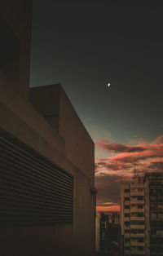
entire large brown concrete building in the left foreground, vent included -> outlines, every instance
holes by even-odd
[[[95,253],[95,145],[62,86],[29,90],[32,2],[0,4],[2,256]]]

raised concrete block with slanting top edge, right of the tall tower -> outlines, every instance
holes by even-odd
[[[58,85],[33,87],[30,101],[65,140],[65,156],[95,183],[95,145],[81,123],[63,88]]]

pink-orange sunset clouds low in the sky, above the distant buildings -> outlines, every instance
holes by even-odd
[[[106,139],[95,144],[108,152],[107,157],[96,157],[95,163],[95,186],[99,191],[97,205],[100,209],[113,209],[119,205],[121,183],[130,183],[134,173],[163,171],[163,135],[151,143],[141,139],[134,146],[109,143]]]

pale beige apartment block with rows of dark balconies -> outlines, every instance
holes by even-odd
[[[121,245],[124,255],[145,255],[143,177],[121,186]]]

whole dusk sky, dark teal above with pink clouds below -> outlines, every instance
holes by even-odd
[[[127,2],[33,0],[31,86],[64,87],[95,141],[105,211],[119,209],[134,164],[163,170],[162,7]]]

